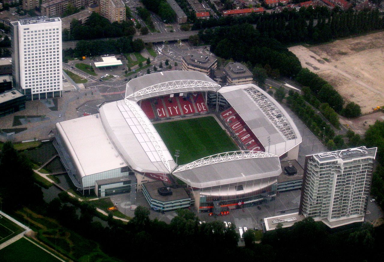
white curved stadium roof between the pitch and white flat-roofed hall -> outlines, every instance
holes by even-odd
[[[132,169],[155,173],[174,169],[167,147],[136,102],[114,101],[99,111],[106,133]]]

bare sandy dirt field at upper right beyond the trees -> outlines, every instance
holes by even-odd
[[[333,85],[346,102],[358,103],[363,114],[384,106],[384,32],[289,50],[303,67]]]

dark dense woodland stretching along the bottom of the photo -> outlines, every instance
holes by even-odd
[[[45,203],[41,189],[33,183],[33,171],[28,159],[15,151],[10,142],[3,145],[0,168],[5,171],[1,173],[0,183],[3,211],[17,215],[15,211],[27,206],[39,215],[58,221],[61,235],[78,234],[72,253],[61,249],[61,245],[57,247],[55,241],[48,240],[42,233],[53,233],[57,229],[40,229],[37,234],[38,239],[76,261],[86,260],[88,255],[103,261],[131,261],[132,255],[140,255],[144,260],[156,261],[223,258],[277,262],[321,258],[324,261],[373,262],[380,261],[384,255],[381,248],[384,226],[373,228],[367,223],[331,230],[323,223],[308,218],[291,228],[278,228],[265,234],[254,234],[250,229],[244,234],[245,247],[238,247],[236,226],[241,225],[232,224],[225,228],[220,221],[200,225],[198,218],[189,210],[177,211],[177,216],[166,224],[149,219],[149,210],[138,207],[129,223],[123,224],[110,215],[103,218],[108,221],[108,226],[103,226],[98,219],[94,219],[102,216],[89,201],[79,202],[61,192],[58,198]],[[15,181],[18,183],[17,190]],[[261,242],[256,244],[255,240]]]

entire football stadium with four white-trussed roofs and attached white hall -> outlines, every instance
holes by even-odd
[[[132,192],[132,201],[142,190],[160,210],[194,203],[217,213],[272,200],[280,161],[297,160],[301,143],[290,116],[261,88],[221,87],[193,71],[132,79],[125,99],[56,129],[54,145],[78,190]],[[146,183],[156,180],[187,196],[153,197]]]

